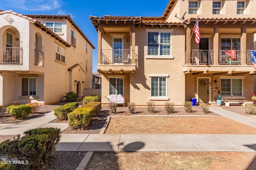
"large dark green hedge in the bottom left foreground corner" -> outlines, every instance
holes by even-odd
[[[24,161],[23,164],[1,165],[0,169],[37,169],[48,162],[60,141],[60,129],[39,128],[25,131],[25,136],[0,143],[0,158]]]

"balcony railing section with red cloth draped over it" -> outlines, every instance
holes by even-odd
[[[219,64],[224,65],[240,65],[240,50],[219,50]]]

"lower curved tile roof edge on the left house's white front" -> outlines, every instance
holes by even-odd
[[[54,37],[56,40],[58,40],[60,43],[64,44],[66,47],[70,47],[71,45],[68,44],[64,39],[60,38],[57,34],[55,34],[54,32],[52,32],[50,29],[48,29],[47,27],[45,27],[42,23],[40,23],[38,20],[31,18],[29,16],[23,15],[23,14],[18,14],[17,12],[13,12],[12,10],[9,11],[1,11],[1,14],[14,14],[16,16],[20,16],[22,18],[26,18],[27,20],[32,21],[32,23],[34,23],[34,25],[36,25],[36,27],[39,27],[42,29],[42,31],[45,31],[47,34],[51,35],[52,37]]]

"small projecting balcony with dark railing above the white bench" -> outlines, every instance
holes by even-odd
[[[102,73],[121,73],[134,72],[138,66],[138,55],[135,54],[132,61],[131,49],[102,49],[100,65],[97,69]]]

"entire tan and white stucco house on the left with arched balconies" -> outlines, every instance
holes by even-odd
[[[0,12],[0,105],[49,104],[90,88],[95,47],[66,16]]]

